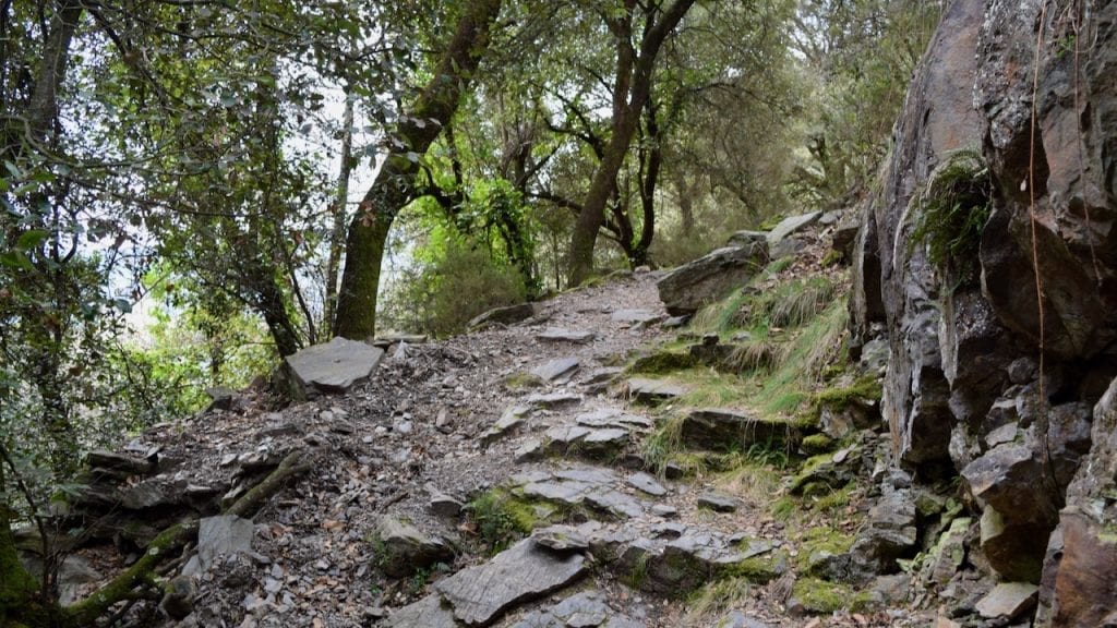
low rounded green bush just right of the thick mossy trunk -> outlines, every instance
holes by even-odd
[[[432,239],[419,265],[388,294],[381,320],[390,326],[446,337],[465,331],[478,314],[525,301],[527,289],[514,267],[476,240],[443,238]]]

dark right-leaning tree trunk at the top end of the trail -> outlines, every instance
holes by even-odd
[[[626,55],[631,54],[628,40],[618,41],[618,80],[613,95],[612,134],[605,146],[604,156],[593,173],[582,212],[574,223],[570,244],[571,285],[581,284],[593,272],[593,249],[598,242],[598,231],[604,222],[605,204],[617,185],[617,173],[624,164],[624,156],[636,133],[640,111],[651,93],[656,57],[667,35],[678,26],[694,2],[695,0],[675,0],[663,11],[660,20],[645,30],[640,54],[636,57],[634,64],[626,63]],[[652,16],[648,16],[648,19],[650,22]],[[627,65],[630,69],[626,68]]]

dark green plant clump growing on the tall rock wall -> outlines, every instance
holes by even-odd
[[[960,283],[976,278],[981,232],[993,204],[989,165],[973,150],[953,152],[913,196],[909,247],[925,246],[927,259]],[[909,248],[910,251],[910,248]]]

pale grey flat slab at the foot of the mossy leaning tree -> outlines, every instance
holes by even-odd
[[[284,359],[290,393],[307,399],[319,392],[345,392],[367,379],[380,364],[384,350],[363,342],[335,337]]]

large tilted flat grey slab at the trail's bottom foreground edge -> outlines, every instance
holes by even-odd
[[[488,626],[515,606],[557,591],[585,571],[581,553],[556,554],[525,539],[485,564],[439,580],[435,590],[459,621]]]

